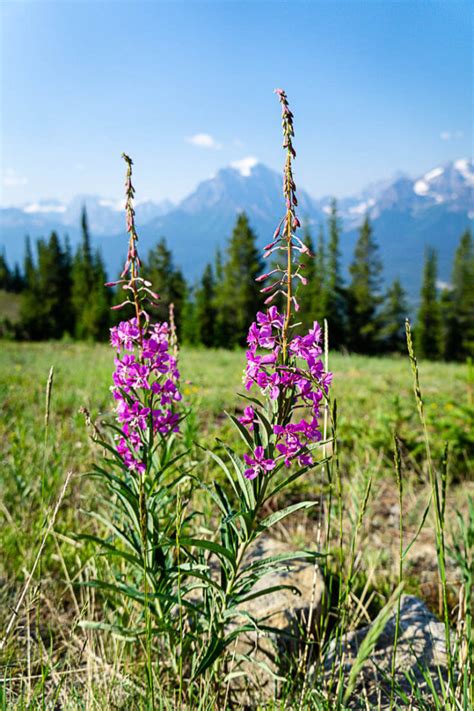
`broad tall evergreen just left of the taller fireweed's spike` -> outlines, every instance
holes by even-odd
[[[245,213],[241,213],[229,241],[223,280],[217,295],[221,345],[244,345],[255,311],[263,305],[260,285],[255,278],[263,264],[256,237]]]

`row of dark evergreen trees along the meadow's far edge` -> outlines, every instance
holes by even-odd
[[[36,241],[34,255],[27,239],[23,270],[18,265],[10,270],[0,254],[0,289],[20,295],[19,320],[12,324],[4,319],[2,335],[33,340],[107,337],[108,328],[121,318],[121,312],[111,311],[111,306],[122,296],[103,286],[107,274],[100,253],[92,250],[85,209],[81,232],[74,254],[67,239],[61,244],[55,232]],[[347,283],[341,267],[336,201],[316,240],[309,226],[303,232],[309,252],[301,257],[307,285],[300,285],[296,293],[300,330],[308,329],[313,320],[327,319],[333,348],[368,355],[405,352],[406,293],[399,279],[382,290],[382,263],[369,217],[359,229]],[[270,268],[278,268],[278,258]],[[244,346],[255,309],[263,308],[264,297],[255,282],[263,270],[256,235],[244,213],[237,217],[225,251],[216,252],[192,285],[161,239],[143,264],[143,276],[160,294],[152,316],[166,320],[173,303],[183,342],[208,348]],[[457,247],[451,282],[442,289],[437,254],[426,250],[415,339],[419,357],[463,360],[472,355],[474,251],[469,230]]]

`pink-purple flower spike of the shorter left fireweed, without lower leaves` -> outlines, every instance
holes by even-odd
[[[120,279],[110,282],[108,286],[120,285],[127,295],[122,303],[113,308],[131,306],[134,316],[110,330],[110,342],[117,350],[112,394],[121,429],[121,433],[116,435],[117,452],[130,471],[144,474],[152,455],[150,437],[165,437],[179,429],[176,403],[181,400],[181,394],[177,351],[170,344],[173,330],[170,333],[166,322],[152,324],[146,311],[147,304],[153,305],[159,296],[151,290],[151,283],[140,277],[133,207],[133,162],[125,153],[122,157],[127,165],[125,212],[128,252]]]

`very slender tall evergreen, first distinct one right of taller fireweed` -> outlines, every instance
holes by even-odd
[[[341,275],[341,253],[339,249],[341,227],[336,200],[331,203],[328,229],[327,280],[324,302],[329,326],[329,343],[333,348],[339,348],[346,343],[347,306],[346,292]]]

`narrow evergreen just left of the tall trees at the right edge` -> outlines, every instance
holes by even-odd
[[[441,353],[441,316],[436,288],[438,259],[436,251],[425,254],[420,307],[415,329],[416,354],[419,358],[439,358]]]

